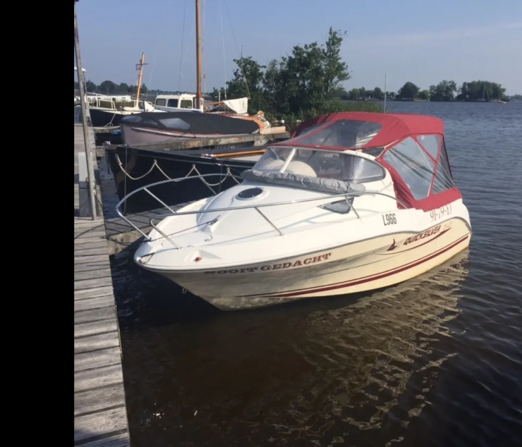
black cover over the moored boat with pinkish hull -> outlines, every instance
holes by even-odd
[[[137,113],[122,118],[121,124],[204,135],[254,134],[259,131],[257,123],[248,119],[188,111]]]

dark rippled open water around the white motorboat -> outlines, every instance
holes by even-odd
[[[134,447],[521,445],[522,103],[388,110],[444,119],[469,250],[384,292],[232,313],[116,255]]]

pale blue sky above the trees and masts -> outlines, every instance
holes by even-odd
[[[145,52],[149,88],[195,90],[194,0],[80,0],[76,8],[88,79],[135,84]],[[522,0],[201,0],[201,14],[206,91],[232,77],[241,47],[266,64],[293,45],[323,42],[332,26],[347,31],[347,90],[384,88],[387,72],[389,91],[406,81],[424,89],[484,79],[522,93]]]

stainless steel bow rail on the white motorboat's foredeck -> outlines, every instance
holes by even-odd
[[[169,240],[170,243],[174,246],[174,248],[180,248],[179,246],[177,246],[176,243],[174,243],[174,241],[167,234],[163,233],[163,231],[161,231],[161,229],[158,228],[157,224],[154,223],[154,221],[156,219],[164,219],[164,218],[171,217],[171,216],[181,216],[181,215],[187,215],[187,214],[216,213],[216,212],[220,212],[220,211],[221,212],[225,212],[225,211],[246,210],[246,209],[252,209],[253,208],[254,210],[256,210],[268,222],[268,224],[272,228],[275,229],[275,231],[277,233],[279,233],[280,236],[284,236],[284,234],[281,232],[281,230],[272,221],[270,221],[270,219],[268,219],[267,216],[259,208],[276,207],[276,206],[280,206],[280,205],[290,205],[292,203],[313,202],[313,201],[316,201],[316,200],[322,200],[322,201],[328,200],[329,201],[328,203],[332,203],[331,199],[336,199],[336,198],[341,198],[342,197],[342,198],[344,198],[347,201],[348,205],[351,207],[351,209],[353,210],[353,212],[357,216],[357,219],[360,219],[359,213],[357,212],[357,210],[355,210],[355,208],[353,207],[353,204],[349,202],[349,198],[350,197],[359,197],[359,196],[364,196],[364,195],[388,197],[388,198],[394,200],[395,202],[399,203],[402,207],[408,208],[408,206],[404,202],[400,201],[396,197],[390,196],[389,194],[384,194],[384,192],[379,192],[379,191],[353,191],[353,192],[344,192],[343,194],[333,194],[331,196],[326,196],[326,197],[312,197],[310,199],[287,200],[287,201],[284,201],[284,202],[273,202],[273,203],[259,203],[257,205],[245,205],[245,206],[241,206],[241,207],[213,208],[211,210],[197,210],[197,211],[177,212],[177,211],[174,211],[171,207],[168,206],[167,203],[163,202],[158,196],[156,196],[155,194],[153,194],[149,190],[149,188],[152,188],[154,186],[164,185],[166,183],[183,182],[184,180],[190,180],[190,179],[195,179],[195,178],[201,180],[201,182],[203,182],[205,185],[207,185],[207,182],[205,182],[202,177],[211,177],[211,176],[228,176],[228,177],[233,177],[236,181],[238,181],[238,178],[241,179],[241,177],[238,176],[238,175],[233,175],[233,174],[228,174],[227,173],[227,174],[199,174],[199,175],[193,175],[193,176],[190,176],[190,177],[169,178],[167,180],[161,180],[161,182],[151,183],[150,185],[142,186],[141,188],[138,188],[138,189],[135,189],[132,192],[129,192],[129,194],[127,194],[122,200],[120,200],[117,203],[117,205],[116,205],[116,213],[125,222],[127,222],[130,226],[132,226],[134,229],[136,229],[136,231],[138,231],[142,236],[144,236],[145,239],[147,239],[148,241],[152,240],[152,238],[147,236],[143,231],[141,231],[140,228],[138,228],[131,221],[129,221],[122,213],[122,204],[129,197],[135,195],[139,191],[147,192],[147,194],[149,194],[153,199],[157,200],[158,203],[160,203],[164,208],[167,208],[169,211],[171,211],[171,213],[157,214],[156,216],[153,216],[152,218],[149,219],[150,225],[159,234],[161,234],[161,236],[163,236],[165,239]],[[218,195],[218,193],[216,191],[214,191],[212,188],[209,187],[209,189],[212,191],[212,193],[215,196]],[[206,224],[217,222],[219,217],[220,216],[218,216],[215,219],[212,219],[211,221],[201,223],[201,224],[199,224],[197,226],[201,226],[201,225],[206,225]],[[190,229],[190,228],[185,228],[183,231],[186,231],[187,229]]]

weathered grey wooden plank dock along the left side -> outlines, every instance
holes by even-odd
[[[103,216],[96,221],[77,216],[77,154],[85,150],[82,132],[81,125],[74,126],[74,445],[128,447],[120,332],[105,222]],[[94,147],[92,128],[89,132]],[[98,197],[101,200],[99,191]]]

